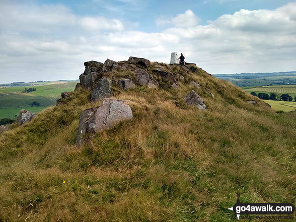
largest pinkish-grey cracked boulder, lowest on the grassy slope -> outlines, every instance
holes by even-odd
[[[85,133],[108,129],[120,121],[131,119],[132,111],[122,100],[104,99],[98,107],[87,109],[80,115],[76,144],[83,143]]]

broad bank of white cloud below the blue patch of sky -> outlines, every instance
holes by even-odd
[[[169,62],[174,51],[210,73],[296,70],[295,15],[296,4],[288,4],[198,25],[187,10],[157,20],[170,25],[163,32],[146,33],[125,29],[134,22],[78,16],[61,5],[0,3],[1,82],[78,79],[87,60]]]

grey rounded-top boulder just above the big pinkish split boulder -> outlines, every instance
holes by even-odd
[[[110,81],[107,79],[100,79],[92,91],[91,101],[95,102],[110,96],[112,96]]]

